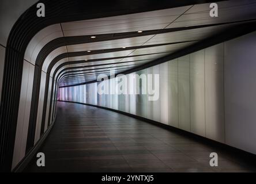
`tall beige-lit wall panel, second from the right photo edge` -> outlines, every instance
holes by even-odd
[[[205,49],[205,133],[224,143],[224,45]]]

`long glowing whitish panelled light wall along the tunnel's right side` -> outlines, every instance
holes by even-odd
[[[121,110],[256,154],[255,43],[254,32],[136,72],[159,74],[156,101],[99,95],[97,83],[61,88],[58,99]],[[136,81],[127,83],[134,90]]]

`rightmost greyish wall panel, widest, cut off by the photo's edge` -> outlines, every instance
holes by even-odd
[[[256,154],[256,32],[224,44],[225,142]]]

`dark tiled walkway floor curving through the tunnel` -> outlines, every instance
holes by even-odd
[[[54,127],[27,172],[255,172],[228,151],[144,121],[91,106],[58,102]],[[217,152],[219,166],[209,166]]]

